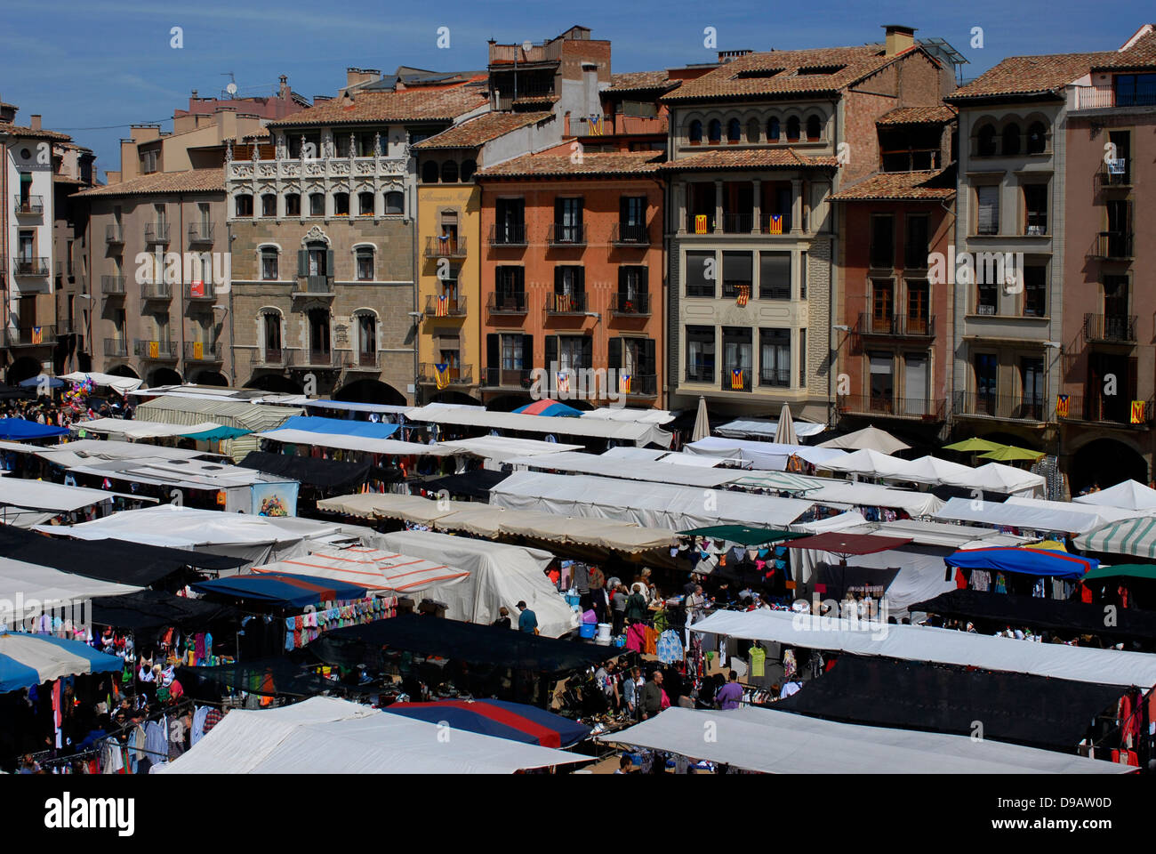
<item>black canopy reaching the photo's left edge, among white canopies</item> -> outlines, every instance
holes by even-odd
[[[60,530],[67,531],[66,528]],[[235,569],[246,562],[244,558],[165,549],[124,539],[58,539],[12,525],[0,525],[0,554],[90,579],[138,587],[148,587],[186,566],[221,570]]]

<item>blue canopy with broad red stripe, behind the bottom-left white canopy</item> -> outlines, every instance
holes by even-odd
[[[506,700],[395,702],[381,711],[428,723],[445,721],[453,729],[543,748],[569,748],[590,736],[590,727],[535,706]]]

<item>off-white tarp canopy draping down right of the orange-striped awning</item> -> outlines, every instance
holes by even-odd
[[[446,617],[488,626],[505,605],[517,618],[514,605],[525,601],[538,617],[538,631],[560,638],[578,627],[578,614],[546,577],[554,555],[540,549],[453,537],[431,531],[398,531],[371,537],[373,545],[424,558],[469,573],[461,583],[436,584],[429,598],[449,605]]]

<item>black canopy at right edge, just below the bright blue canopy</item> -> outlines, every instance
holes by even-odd
[[[1104,605],[1011,596],[985,590],[949,590],[909,606],[942,617],[990,620],[1010,626],[1046,628],[1064,635],[1096,634],[1118,640],[1156,640],[1156,611],[1117,608],[1116,625],[1105,625]]]

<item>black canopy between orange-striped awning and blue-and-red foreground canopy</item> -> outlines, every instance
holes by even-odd
[[[335,628],[309,645],[321,661],[343,667],[380,667],[384,648],[550,673],[599,664],[625,651],[413,613]]]

